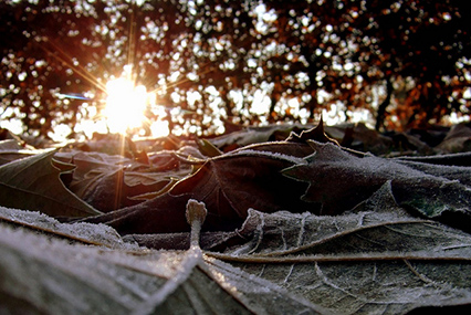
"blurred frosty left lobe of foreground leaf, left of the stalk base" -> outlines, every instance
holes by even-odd
[[[0,223],[0,292],[13,297],[0,313],[18,311],[20,298],[25,313],[130,314],[176,277],[179,256],[70,244]]]

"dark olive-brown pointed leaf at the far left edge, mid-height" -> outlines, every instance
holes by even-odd
[[[52,150],[0,166],[0,204],[59,217],[100,214],[64,187],[61,171],[52,165],[54,154]]]

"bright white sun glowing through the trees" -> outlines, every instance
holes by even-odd
[[[106,94],[103,114],[111,133],[126,134],[145,124],[149,94],[144,85],[135,85],[133,81],[119,77],[108,81]]]

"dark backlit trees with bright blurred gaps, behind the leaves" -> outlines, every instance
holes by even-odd
[[[323,111],[401,129],[471,106],[464,1],[11,0],[0,10],[1,119],[33,135],[101,119],[106,83],[126,71],[155,93],[149,122],[174,133],[308,123]]]

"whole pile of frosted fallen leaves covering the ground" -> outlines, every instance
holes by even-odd
[[[356,150],[355,128],[13,155],[0,204],[45,214],[0,208],[0,300],[78,314],[469,311],[471,168],[465,136],[452,136],[463,127],[435,146],[404,134],[436,155],[390,157]],[[450,139],[460,153],[443,149]],[[202,252],[189,200],[208,212]]]

